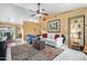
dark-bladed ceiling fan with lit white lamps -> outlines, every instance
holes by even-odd
[[[32,12],[35,12],[34,14],[32,14],[31,17],[37,17],[37,18],[42,18],[42,15],[48,15],[48,13],[44,13],[44,9],[41,9],[41,3],[37,3],[37,10],[36,11],[33,11],[33,10],[30,10]]]

